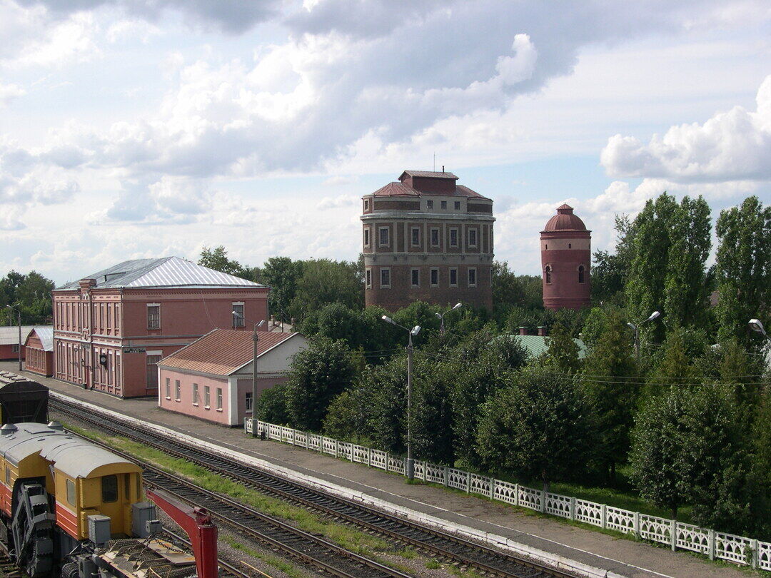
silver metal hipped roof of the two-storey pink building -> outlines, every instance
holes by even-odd
[[[82,278],[96,280],[97,288],[264,287],[253,281],[214,271],[180,257],[123,261]],[[72,290],[78,287],[79,281],[72,281],[55,291]]]

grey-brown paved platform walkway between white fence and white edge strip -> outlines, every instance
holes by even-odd
[[[0,369],[16,371],[15,367],[12,362],[0,362]],[[160,410],[154,399],[120,400],[61,381],[29,375],[35,378],[35,381],[56,391],[94,405],[173,428],[208,442],[216,442],[235,451],[293,469],[306,476],[324,479],[376,499],[445,519],[450,523],[506,536],[525,546],[601,568],[607,571],[608,576],[746,578],[752,575],[746,569],[739,570],[732,566],[709,563],[689,553],[672,552],[648,543],[608,536],[591,529],[577,528],[557,519],[533,516],[480,497],[467,496],[433,486],[408,485],[401,476],[394,476],[365,465],[345,462],[279,442],[263,442],[259,439],[247,438],[239,428],[224,428]]]

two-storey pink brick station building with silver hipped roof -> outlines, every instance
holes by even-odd
[[[53,314],[57,379],[144,397],[158,394],[162,358],[214,328],[267,320],[268,287],[179,257],[129,260],[55,289]]]

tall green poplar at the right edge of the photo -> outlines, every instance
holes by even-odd
[[[765,344],[747,330],[747,322],[759,318],[771,324],[771,206],[747,197],[739,207],[721,211],[715,230],[719,339],[736,338],[757,351]]]

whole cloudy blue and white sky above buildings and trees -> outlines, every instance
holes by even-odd
[[[0,274],[355,260],[406,169],[520,274],[564,202],[593,249],[665,190],[771,203],[767,0],[0,0],[0,38]]]

